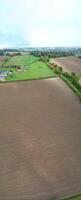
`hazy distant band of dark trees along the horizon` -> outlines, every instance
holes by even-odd
[[[0,55],[6,55],[10,53],[28,52],[36,57],[47,56],[48,58],[58,58],[78,55],[81,56],[81,48],[9,48],[0,50]]]

